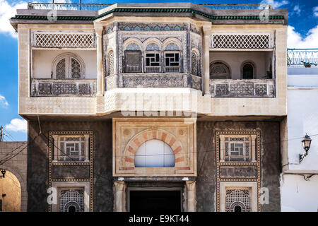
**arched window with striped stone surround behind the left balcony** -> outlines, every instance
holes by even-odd
[[[57,64],[59,64],[59,62],[63,59],[65,59],[65,78],[57,78]],[[75,59],[80,65],[80,68],[81,68],[80,78],[72,78],[71,59]],[[54,79],[85,79],[86,78],[85,63],[83,59],[81,59],[81,57],[78,57],[78,55],[76,54],[73,54],[70,52],[59,54],[59,56],[57,56],[52,62],[51,77]]]

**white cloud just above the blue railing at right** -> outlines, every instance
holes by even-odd
[[[306,37],[302,38],[299,32],[295,31],[293,26],[288,25],[288,37],[287,37],[287,47],[288,48],[318,48],[318,25],[310,29]]]

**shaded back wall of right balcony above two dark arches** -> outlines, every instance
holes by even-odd
[[[232,79],[241,78],[241,66],[244,61],[250,60],[256,64],[256,75],[259,79],[264,79],[266,71],[269,70],[269,58],[272,52],[237,52],[237,51],[217,51],[210,52],[210,63],[213,61],[224,61],[230,66]]]

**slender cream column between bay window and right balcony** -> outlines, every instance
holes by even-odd
[[[204,25],[203,30],[204,30],[204,34],[203,34],[203,41],[202,41],[202,46],[203,46],[203,71],[204,73],[202,73],[202,81],[203,81],[203,93],[204,95],[208,95],[211,96],[210,93],[210,47],[209,47],[209,41],[210,41],[210,29],[211,29],[211,25]]]

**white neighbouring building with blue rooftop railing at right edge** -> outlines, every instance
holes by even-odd
[[[290,49],[288,58],[288,162],[281,176],[281,210],[317,212],[318,51]],[[312,143],[300,161],[305,150],[299,138],[306,133]]]

